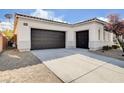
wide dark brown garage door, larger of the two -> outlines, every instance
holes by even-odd
[[[31,49],[65,48],[65,32],[31,29]]]

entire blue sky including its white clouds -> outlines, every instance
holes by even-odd
[[[13,17],[11,23],[8,23],[4,15],[14,15],[15,13],[27,14],[71,24],[94,17],[107,21],[106,16],[109,14],[119,14],[121,18],[124,18],[124,9],[0,9],[0,21],[3,29],[7,27],[12,29],[14,21]]]

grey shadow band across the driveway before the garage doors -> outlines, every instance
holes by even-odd
[[[40,60],[48,62],[50,60],[59,59],[71,55],[80,54],[87,58],[93,58],[102,62],[110,63],[119,67],[124,68],[124,61],[98,55],[88,51],[87,49],[47,49],[47,50],[34,50],[32,53],[37,56]]]

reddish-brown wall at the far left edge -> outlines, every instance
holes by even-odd
[[[8,40],[3,33],[0,33],[0,52],[7,48]]]

